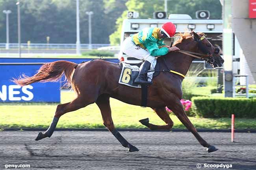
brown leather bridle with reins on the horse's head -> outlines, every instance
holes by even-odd
[[[201,60],[205,60],[209,64],[213,64],[214,61],[215,61],[214,58],[213,58],[213,54],[211,54],[211,52],[207,48],[205,48],[205,46],[203,46],[203,44],[202,44],[202,40],[204,38],[205,38],[205,36],[203,35],[200,39],[195,39],[195,41],[198,42],[198,48],[201,51],[203,51],[204,54],[195,53],[195,52],[191,52],[191,51],[184,51],[184,50],[178,50],[177,52],[189,55],[191,57],[199,58]],[[219,48],[215,48],[214,54],[219,54]],[[208,58],[208,57],[210,57],[210,58]]]

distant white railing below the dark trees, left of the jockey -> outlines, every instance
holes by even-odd
[[[46,44],[46,43],[21,43],[21,48],[64,48],[64,49],[75,49],[76,44]],[[107,47],[110,44],[91,44],[93,49]],[[0,48],[6,48],[6,43],[0,43]],[[9,43],[9,48],[19,48],[18,43]],[[89,44],[81,44],[82,49],[88,49]]]

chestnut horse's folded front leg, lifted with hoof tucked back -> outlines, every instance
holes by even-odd
[[[168,115],[165,107],[160,107],[160,108],[152,108],[156,114],[166,123],[166,125],[154,125],[149,123],[149,119],[142,119],[139,122],[141,122],[141,124],[147,126],[149,129],[151,130],[162,130],[162,129],[166,129],[166,130],[171,130],[171,128],[173,127],[173,121],[170,118],[170,116]]]

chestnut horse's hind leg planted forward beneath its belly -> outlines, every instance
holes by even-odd
[[[103,124],[106,128],[117,138],[117,140],[122,144],[122,146],[129,148],[129,152],[139,151],[135,146],[130,144],[122,135],[115,129],[112,117],[111,108],[109,104],[108,95],[100,95],[96,101],[96,104],[100,108],[100,112],[103,119]]]

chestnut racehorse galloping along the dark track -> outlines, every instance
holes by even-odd
[[[213,67],[223,64],[224,60],[219,55],[219,50],[214,48],[213,45],[204,38],[202,33],[197,34],[191,31],[188,33],[179,33],[179,36],[180,38],[176,40],[173,45],[187,52],[173,52],[159,57],[158,62],[161,63],[161,70],[171,68],[178,73],[186,75],[191,62],[195,59],[194,57],[198,57],[198,55],[201,55],[202,57],[200,58],[204,60],[210,60],[210,64]],[[197,56],[192,54],[197,54]],[[40,132],[35,140],[38,141],[45,137],[50,137],[61,115],[96,102],[100,108],[104,126],[117,138],[122,146],[129,148],[130,152],[138,151],[135,146],[128,143],[115,129],[111,117],[109,97],[129,104],[141,104],[141,89],[118,83],[121,73],[119,64],[97,59],[81,64],[61,60],[43,64],[39,71],[32,77],[23,76],[13,81],[20,86],[39,81],[57,81],[61,78],[63,73],[68,80],[68,84],[72,86],[72,89],[76,93],[76,98],[71,102],[57,106],[54,119],[49,128],[44,133]],[[176,73],[167,71],[160,72],[160,74],[154,78],[153,84],[148,86],[147,106],[152,108],[166,124],[161,126],[150,124],[148,119],[143,119],[140,122],[151,130],[170,130],[173,126],[173,121],[165,110],[165,106],[167,106],[174,112],[186,128],[195,135],[199,143],[207,148],[206,150],[208,152],[214,152],[217,148],[202,139],[193,124],[189,121],[180,102],[180,99],[182,99],[183,79],[184,77]]]

